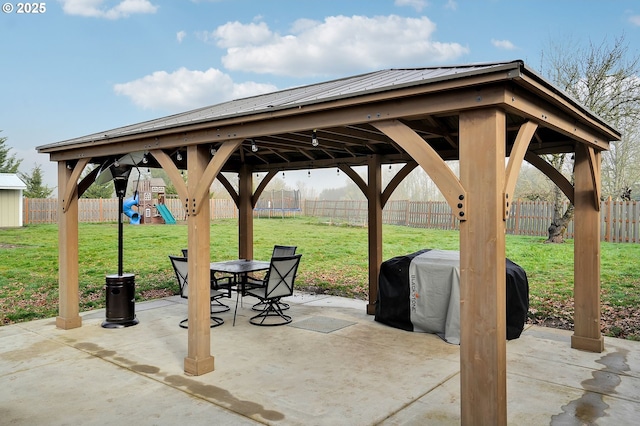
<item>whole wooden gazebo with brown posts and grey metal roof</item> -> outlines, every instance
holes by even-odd
[[[369,303],[382,263],[382,209],[416,167],[460,220],[461,419],[506,424],[505,220],[523,160],[575,206],[575,328],[571,346],[601,352],[600,160],[620,134],[522,61],[389,69],[234,100],[37,148],[58,163],[59,315],[81,326],[78,197],[96,168],[128,153],[162,167],[187,211],[188,347],[184,371],[214,369],[209,329],[209,187],[239,209],[239,257],[253,257],[252,210],[287,170],[337,167],[368,199]],[[541,155],[574,153],[574,183]],[[508,161],[507,161],[508,158]],[[446,164],[458,160],[459,176]],[[404,164],[382,187],[383,164]],[[367,167],[362,179],[355,166]],[[180,170],[188,171],[184,183]],[[238,190],[220,172],[238,174]],[[266,173],[255,191],[253,174]],[[215,349],[215,345],[214,345]],[[215,351],[215,350],[214,350]]]

